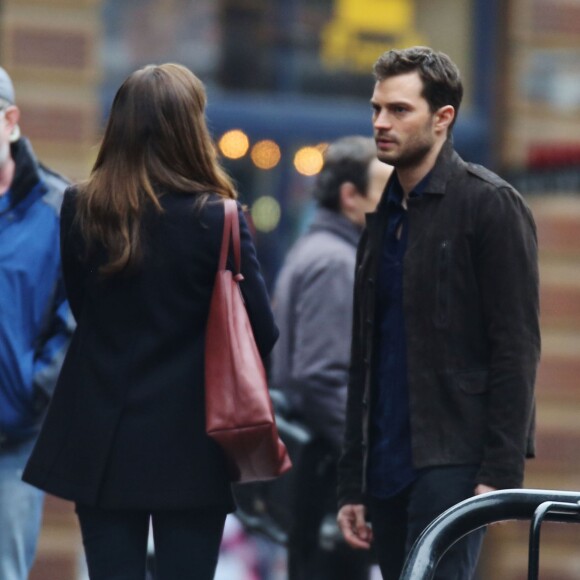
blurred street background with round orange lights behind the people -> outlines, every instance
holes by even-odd
[[[578,0],[0,0],[0,65],[14,80],[23,133],[73,180],[88,175],[130,72],[189,66],[206,84],[210,129],[272,287],[308,222],[325,144],[372,134],[377,56],[413,44],[448,53],[466,86],[457,149],[511,181],[538,224],[543,358],[526,486],[578,490],[579,32]],[[76,526],[71,506],[48,498],[33,580],[82,577]],[[525,523],[493,527],[481,577],[527,577],[527,534]],[[225,578],[260,580],[243,571],[255,567],[241,563],[247,546],[233,559],[226,548]],[[543,579],[580,577],[580,527],[546,524],[540,563]]]

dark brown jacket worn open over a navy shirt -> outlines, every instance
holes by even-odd
[[[367,215],[357,255],[339,505],[365,499],[375,279],[385,230],[379,215]],[[403,288],[413,463],[477,463],[478,483],[520,487],[524,459],[534,455],[540,356],[532,214],[508,183],[464,162],[448,140],[424,195],[408,202],[408,223]]]

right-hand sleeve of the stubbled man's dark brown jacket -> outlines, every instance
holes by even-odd
[[[481,203],[477,276],[490,345],[488,422],[478,483],[519,487],[540,356],[539,276],[532,214],[508,187]]]

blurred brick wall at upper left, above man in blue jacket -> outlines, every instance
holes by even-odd
[[[98,0],[5,0],[0,64],[12,76],[21,129],[50,167],[88,175],[98,139]]]

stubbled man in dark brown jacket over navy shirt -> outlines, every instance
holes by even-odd
[[[538,263],[521,196],[453,148],[463,88],[449,57],[391,50],[374,72],[377,155],[395,172],[359,246],[339,524],[395,579],[444,510],[522,485]],[[472,578],[482,538],[453,546],[435,577]]]

